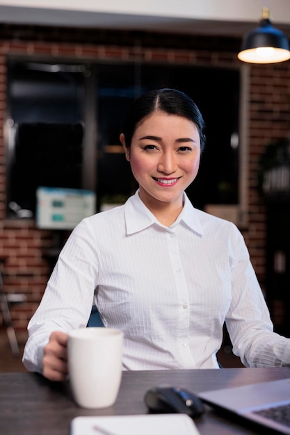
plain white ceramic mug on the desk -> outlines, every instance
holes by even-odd
[[[123,333],[118,329],[74,329],[68,337],[67,359],[74,400],[83,408],[115,403],[122,379]]]

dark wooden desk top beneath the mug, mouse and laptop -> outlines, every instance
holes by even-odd
[[[34,373],[2,373],[0,432],[3,435],[70,435],[70,422],[76,416],[144,414],[147,413],[143,402],[145,391],[161,384],[182,386],[198,393],[223,386],[287,377],[290,377],[290,368],[124,372],[120,393],[113,407],[88,410],[74,404],[68,383],[52,383]],[[241,424],[232,418],[225,418],[209,407],[195,423],[201,435],[265,433],[249,423]]]

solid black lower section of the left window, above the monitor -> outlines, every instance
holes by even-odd
[[[16,204],[34,213],[38,186],[81,188],[81,124],[29,122],[15,130],[10,188]]]

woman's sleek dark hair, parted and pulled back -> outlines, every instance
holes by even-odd
[[[132,136],[139,122],[156,110],[168,113],[168,115],[182,116],[192,121],[200,134],[200,149],[203,151],[205,145],[204,120],[198,106],[184,92],[169,88],[151,90],[134,101],[122,126],[127,148],[131,146]]]

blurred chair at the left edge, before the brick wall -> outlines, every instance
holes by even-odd
[[[13,327],[13,321],[10,314],[10,304],[21,304],[26,301],[26,296],[16,293],[6,293],[4,291],[3,278],[0,271],[0,308],[3,318],[3,324],[6,326],[6,331],[14,355],[19,355],[19,345]]]

